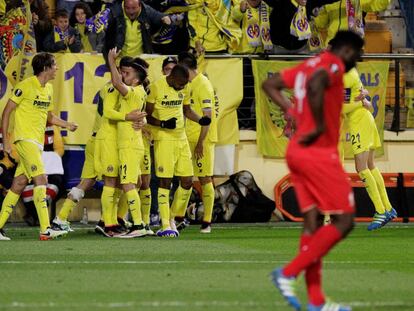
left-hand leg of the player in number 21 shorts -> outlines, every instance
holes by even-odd
[[[375,214],[368,230],[375,230],[381,228],[387,221],[387,214],[384,205],[382,204],[381,195],[377,187],[374,176],[368,168],[369,151],[364,151],[354,155],[355,168],[359,177],[365,185],[365,189],[374,204]]]

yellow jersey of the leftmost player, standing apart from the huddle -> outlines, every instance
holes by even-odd
[[[43,87],[36,76],[19,82],[10,99],[16,103],[14,142],[31,140],[43,146],[48,112],[53,108],[53,87]]]

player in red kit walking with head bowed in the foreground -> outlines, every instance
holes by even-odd
[[[350,31],[332,39],[330,51],[298,66],[276,73],[263,89],[296,122],[286,160],[304,217],[298,255],[272,272],[272,281],[295,309],[301,305],[295,293],[297,276],[304,271],[308,311],[346,311],[325,301],[321,288],[324,257],[353,228],[354,199],[338,156],[340,114],[343,102],[343,74],[355,66],[363,40]],[[294,90],[294,103],[282,90]],[[323,215],[331,224],[323,226]]]

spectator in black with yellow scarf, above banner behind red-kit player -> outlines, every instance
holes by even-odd
[[[265,0],[272,7],[270,36],[276,54],[307,53],[313,14],[338,0]]]

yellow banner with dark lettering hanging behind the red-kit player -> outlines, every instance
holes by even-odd
[[[259,152],[268,157],[284,157],[288,138],[284,131],[286,121],[278,106],[264,94],[262,83],[274,72],[294,66],[296,62],[253,60],[254,90],[256,95],[256,134]],[[388,62],[363,62],[357,65],[362,84],[368,89],[374,107],[374,117],[378,132],[383,141],[385,118],[385,92],[388,79]],[[287,92],[291,96],[290,92]],[[353,158],[350,135],[345,128],[342,135],[345,157]],[[383,148],[377,155],[384,153]]]

